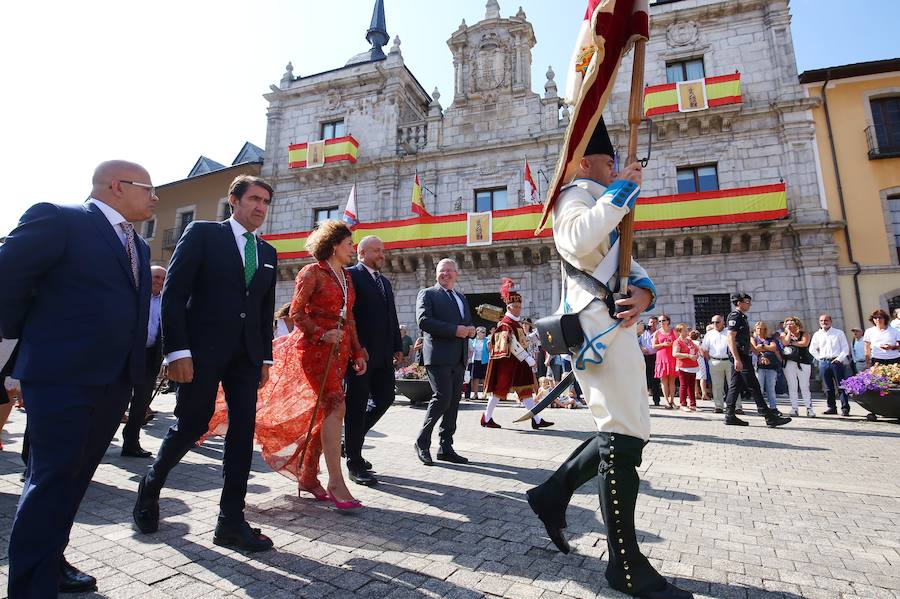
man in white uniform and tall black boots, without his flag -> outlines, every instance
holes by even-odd
[[[562,259],[593,273],[610,252],[622,218],[634,208],[642,172],[639,164],[616,173],[614,151],[601,119],[570,184],[553,210],[553,239]],[[617,262],[617,261],[616,261]],[[612,286],[618,273],[601,281]],[[564,277],[565,312],[578,313],[585,343],[573,356],[575,378],[584,390],[598,433],[582,443],[543,484],[528,491],[528,503],[563,553],[565,512],[575,490],[599,473],[600,508],[607,529],[606,578],[612,588],[647,599],[689,599],[693,595],[662,577],[641,553],[634,529],[637,467],[650,438],[650,410],[644,358],[631,329],[653,308],[656,288],[631,262],[630,297],[608,304],[572,277]],[[608,300],[607,300],[608,301]],[[624,330],[623,330],[624,329]]]

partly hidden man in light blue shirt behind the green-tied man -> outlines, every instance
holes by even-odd
[[[144,346],[146,368],[144,380],[131,390],[131,404],[128,421],[122,428],[122,455],[126,458],[149,458],[151,454],[141,447],[141,427],[147,421],[147,410],[153,399],[156,378],[162,364],[162,327],[160,326],[160,304],[162,287],[166,281],[166,269],[162,266],[150,267],[150,318],[147,322],[147,343]]]

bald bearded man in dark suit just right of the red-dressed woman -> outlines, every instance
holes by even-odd
[[[394,362],[403,357],[400,323],[394,305],[394,290],[381,274],[384,243],[374,235],[364,237],[356,248],[359,263],[348,269],[356,290],[353,317],[359,342],[369,353],[369,367],[362,375],[347,375],[347,411],[344,443],[350,480],[374,485],[372,464],[362,457],[366,433],[394,403]],[[367,409],[369,397],[374,406]]]

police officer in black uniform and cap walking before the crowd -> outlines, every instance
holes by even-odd
[[[750,345],[750,323],[747,321],[747,311],[750,309],[751,298],[746,293],[732,293],[731,303],[734,304],[728,317],[725,319],[728,331],[728,349],[731,351],[731,382],[728,385],[728,394],[725,396],[725,424],[733,426],[747,426],[749,423],[734,415],[734,407],[738,396],[744,391],[749,391],[759,413],[765,416],[766,424],[770,427],[781,426],[791,421],[777,410],[770,408],[763,400],[762,391],[759,388],[759,380],[753,372],[753,347]]]

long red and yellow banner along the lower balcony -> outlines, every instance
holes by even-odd
[[[541,218],[542,207],[523,206],[493,213],[493,240],[530,239]],[[736,222],[775,220],[787,212],[785,185],[762,185],[702,193],[639,198],[635,228],[667,229]],[[540,237],[550,237],[545,229]],[[307,258],[304,251],[308,231],[264,235],[275,246],[280,259]],[[448,214],[403,220],[360,223],[353,241],[377,235],[388,249],[424,248],[466,244],[466,214]]]

